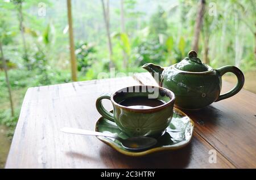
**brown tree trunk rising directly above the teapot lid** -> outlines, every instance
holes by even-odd
[[[192,44],[192,50],[195,50],[196,52],[198,51],[200,30],[201,30],[201,26],[203,24],[204,8],[205,8],[205,0],[201,0],[199,8],[197,10],[195,32],[194,32],[194,38],[193,38],[193,44]]]

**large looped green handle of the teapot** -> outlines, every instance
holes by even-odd
[[[225,94],[218,96],[215,102],[234,96],[242,89],[243,84],[245,83],[245,76],[243,76],[243,73],[239,68],[237,68],[236,66],[223,66],[217,68],[216,71],[220,74],[220,76],[226,74],[226,72],[234,73],[234,75],[237,76],[237,85],[229,92],[226,92]]]

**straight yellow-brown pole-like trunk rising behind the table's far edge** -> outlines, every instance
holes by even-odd
[[[77,81],[77,65],[76,65],[76,55],[75,55],[75,45],[74,45],[74,38],[73,38],[73,24],[72,24],[72,7],[71,7],[71,0],[67,0],[68,5],[68,25],[69,25],[69,52],[71,57],[71,72],[72,72],[72,80],[74,82]]]

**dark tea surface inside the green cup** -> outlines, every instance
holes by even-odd
[[[148,98],[147,96],[130,97],[121,102],[120,105],[133,109],[149,109],[165,104],[163,100]]]

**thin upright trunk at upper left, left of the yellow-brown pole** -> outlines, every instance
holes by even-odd
[[[26,39],[24,36],[24,25],[23,25],[23,12],[22,12],[22,2],[18,4],[18,16],[19,16],[19,29],[20,29],[20,35],[22,36],[22,44],[23,44],[23,50],[24,50],[24,61],[26,63],[26,66],[28,70],[31,69],[31,65],[28,59],[28,54],[27,54],[27,44],[26,44]]]

